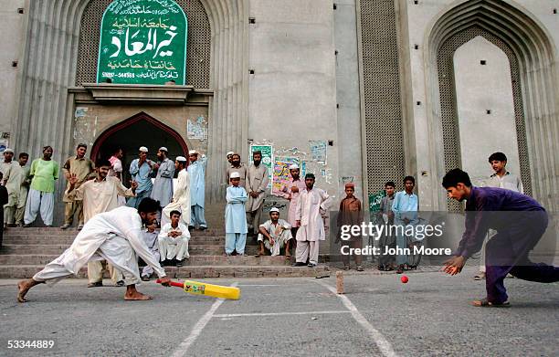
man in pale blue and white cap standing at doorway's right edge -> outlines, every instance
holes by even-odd
[[[202,154],[198,159],[198,152],[191,150],[188,152],[190,165],[188,174],[190,175],[190,228],[198,226],[200,229],[207,228],[204,216],[204,195],[206,194],[206,155]]]

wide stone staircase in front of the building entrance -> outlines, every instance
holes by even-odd
[[[8,228],[0,250],[0,278],[31,278],[68,248],[78,234],[75,229],[29,227]],[[315,277],[329,274],[323,265],[294,268],[281,257],[254,257],[256,243],[248,238],[248,257],[224,257],[225,232],[221,229],[194,231],[189,243],[190,258],[181,268],[165,267],[171,278],[277,278]],[[87,277],[82,268],[79,278]]]

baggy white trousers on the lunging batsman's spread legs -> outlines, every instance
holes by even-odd
[[[64,262],[71,261],[72,251],[67,249],[60,257],[47,264],[43,270],[39,271],[33,277],[36,281],[44,281],[47,283],[56,283],[57,281],[67,278],[73,273],[64,265]],[[128,240],[121,236],[112,236],[107,239],[97,249],[90,260],[107,260],[114,268],[119,269],[124,275],[124,284],[134,285],[140,283],[140,268],[138,268],[138,257],[132,249]]]

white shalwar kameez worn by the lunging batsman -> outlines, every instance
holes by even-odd
[[[55,283],[77,274],[90,260],[105,259],[121,270],[126,286],[139,284],[140,269],[136,255],[142,257],[159,278],[165,276],[165,270],[142,238],[142,218],[138,210],[122,206],[91,218],[72,245],[60,257],[48,263],[33,279]]]

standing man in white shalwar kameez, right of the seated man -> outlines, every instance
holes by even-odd
[[[306,188],[299,196],[296,219],[301,221],[301,226],[296,236],[297,263],[305,263],[309,257],[310,264],[318,264],[319,241],[326,240],[321,210],[328,210],[331,201],[326,191],[317,187]]]

